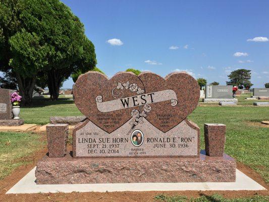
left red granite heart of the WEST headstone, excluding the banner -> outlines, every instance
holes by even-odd
[[[121,96],[135,96],[138,95],[138,88],[145,90],[141,80],[131,72],[119,72],[111,79],[99,72],[87,72],[78,78],[73,87],[74,102],[91,122],[111,133],[125,124],[131,118],[131,112],[139,107],[102,113],[96,107],[96,97],[101,96],[102,102],[106,102]]]

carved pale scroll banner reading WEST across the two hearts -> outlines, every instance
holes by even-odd
[[[137,96],[124,97],[120,99],[109,100],[106,102],[102,102],[102,95],[98,95],[95,100],[97,109],[100,112],[113,112],[116,110],[123,110],[132,107],[143,106],[146,104],[159,103],[167,100],[171,100],[171,106],[173,107],[178,104],[176,92],[171,89],[140,94]]]

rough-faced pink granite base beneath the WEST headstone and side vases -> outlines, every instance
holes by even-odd
[[[230,156],[189,158],[43,157],[35,171],[37,184],[235,182]]]

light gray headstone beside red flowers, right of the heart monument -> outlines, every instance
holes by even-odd
[[[206,85],[205,98],[233,98],[233,86]]]

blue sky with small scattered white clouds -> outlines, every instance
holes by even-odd
[[[185,70],[225,85],[231,71],[245,68],[253,87],[269,82],[269,1],[63,3],[84,24],[97,67],[109,77],[127,68],[161,76]]]

